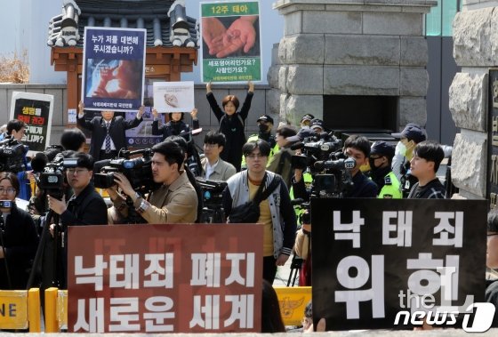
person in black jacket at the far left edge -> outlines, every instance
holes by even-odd
[[[38,245],[35,222],[18,208],[20,184],[14,173],[0,173],[0,199],[11,201],[0,208],[0,289],[24,290]]]

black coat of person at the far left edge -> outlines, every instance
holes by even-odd
[[[26,289],[29,269],[38,246],[35,221],[28,212],[13,205],[2,234],[3,243],[0,241],[0,245],[4,246],[6,259],[0,259],[0,289]],[[5,261],[9,268],[12,288],[9,287]]]

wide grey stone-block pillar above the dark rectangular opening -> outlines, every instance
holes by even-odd
[[[436,4],[277,0],[273,8],[284,15],[285,31],[269,68],[269,85],[279,96],[273,112],[297,124],[305,113],[323,118],[324,95],[396,96],[398,125],[425,124],[423,16]]]

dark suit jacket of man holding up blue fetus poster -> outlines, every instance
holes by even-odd
[[[141,124],[141,121],[142,118],[138,119],[137,117],[129,121],[124,120],[122,116],[115,116],[112,118],[110,122],[109,134],[111,140],[116,146],[117,151],[121,148],[126,148],[126,137],[124,131],[138,126]],[[104,143],[107,134],[104,118],[101,116],[95,116],[90,122],[87,122],[84,118],[77,118],[77,124],[92,132],[90,155],[92,155],[93,160],[100,160],[100,148],[102,148],[102,144]]]

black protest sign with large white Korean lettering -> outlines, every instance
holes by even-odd
[[[409,328],[400,311],[484,299],[486,200],[313,199],[311,214],[313,318],[326,330]]]

